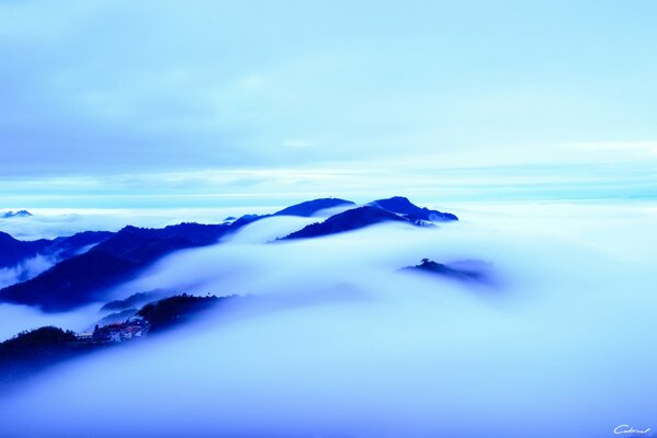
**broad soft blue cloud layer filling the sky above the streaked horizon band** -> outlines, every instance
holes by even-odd
[[[540,14],[440,3],[399,14],[371,2],[0,8],[9,178],[395,163],[408,153],[441,165],[458,151],[510,164],[520,152],[555,157],[563,142],[657,135],[644,107],[655,92],[645,8],[619,20],[612,7],[580,7],[573,18],[587,27],[565,23],[557,37],[552,4]],[[596,24],[610,19],[614,28]],[[508,32],[488,32],[491,22]],[[627,65],[636,68],[621,71]]]

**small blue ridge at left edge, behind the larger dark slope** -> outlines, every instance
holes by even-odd
[[[0,268],[16,266],[22,261],[37,255],[58,261],[70,258],[90,245],[106,240],[112,234],[109,231],[84,231],[54,240],[21,241],[0,232]]]

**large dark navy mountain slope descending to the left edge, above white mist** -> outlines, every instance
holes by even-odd
[[[177,250],[216,243],[226,224],[181,223],[163,229],[125,227],[84,254],[66,260],[37,277],[0,290],[0,301],[64,311],[102,298],[112,286]]]

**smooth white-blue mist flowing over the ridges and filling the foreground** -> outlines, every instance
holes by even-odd
[[[580,438],[657,425],[657,209],[451,207],[461,221],[294,242],[275,238],[316,219],[264,219],[161,260],[111,298],[252,299],[1,394],[2,435]],[[398,272],[423,257],[480,260],[496,281]]]

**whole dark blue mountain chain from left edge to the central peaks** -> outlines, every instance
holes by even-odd
[[[45,311],[69,310],[104,299],[104,292],[110,288],[134,278],[174,251],[217,243],[220,238],[253,221],[272,216],[309,217],[326,208],[351,205],[354,204],[344,199],[314,199],[273,215],[246,215],[220,224],[180,223],[162,229],[128,226],[116,233],[84,232],[53,241],[21,242],[0,233],[0,267],[36,254],[57,254],[65,258],[27,281],[1,289],[0,302],[37,306]],[[329,235],[386,221],[423,226],[427,220],[457,219],[451,214],[417,207],[407,198],[394,197],[333,215],[281,240]],[[91,245],[94,246],[83,252]]]

